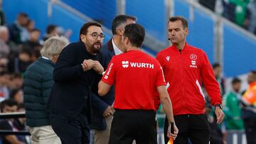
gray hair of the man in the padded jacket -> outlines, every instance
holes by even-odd
[[[68,43],[68,39],[63,36],[53,36],[46,40],[40,53],[43,57],[52,60],[53,56],[59,55]]]

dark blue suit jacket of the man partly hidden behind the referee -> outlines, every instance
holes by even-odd
[[[110,63],[110,60],[114,56],[114,48],[112,45],[112,39],[109,40],[105,45],[101,48],[102,51],[102,66],[104,70],[107,70],[107,65]],[[94,96],[95,98],[96,96]],[[102,116],[107,106],[112,106],[114,102],[114,88],[111,87],[110,92],[107,93],[106,96],[97,96],[97,102],[92,103],[92,123],[91,128],[97,129],[100,131],[105,130],[106,128],[106,121],[105,118]]]

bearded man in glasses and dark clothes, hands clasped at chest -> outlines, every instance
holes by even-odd
[[[98,61],[103,38],[100,24],[85,23],[80,42],[68,45],[58,57],[49,104],[50,123],[62,143],[90,143],[90,100],[103,72]]]

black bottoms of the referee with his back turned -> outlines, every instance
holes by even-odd
[[[114,112],[110,130],[110,144],[157,144],[156,114],[146,110],[119,110]]]

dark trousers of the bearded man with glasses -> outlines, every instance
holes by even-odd
[[[62,144],[89,144],[90,128],[85,114],[67,118],[51,113],[50,124]]]

